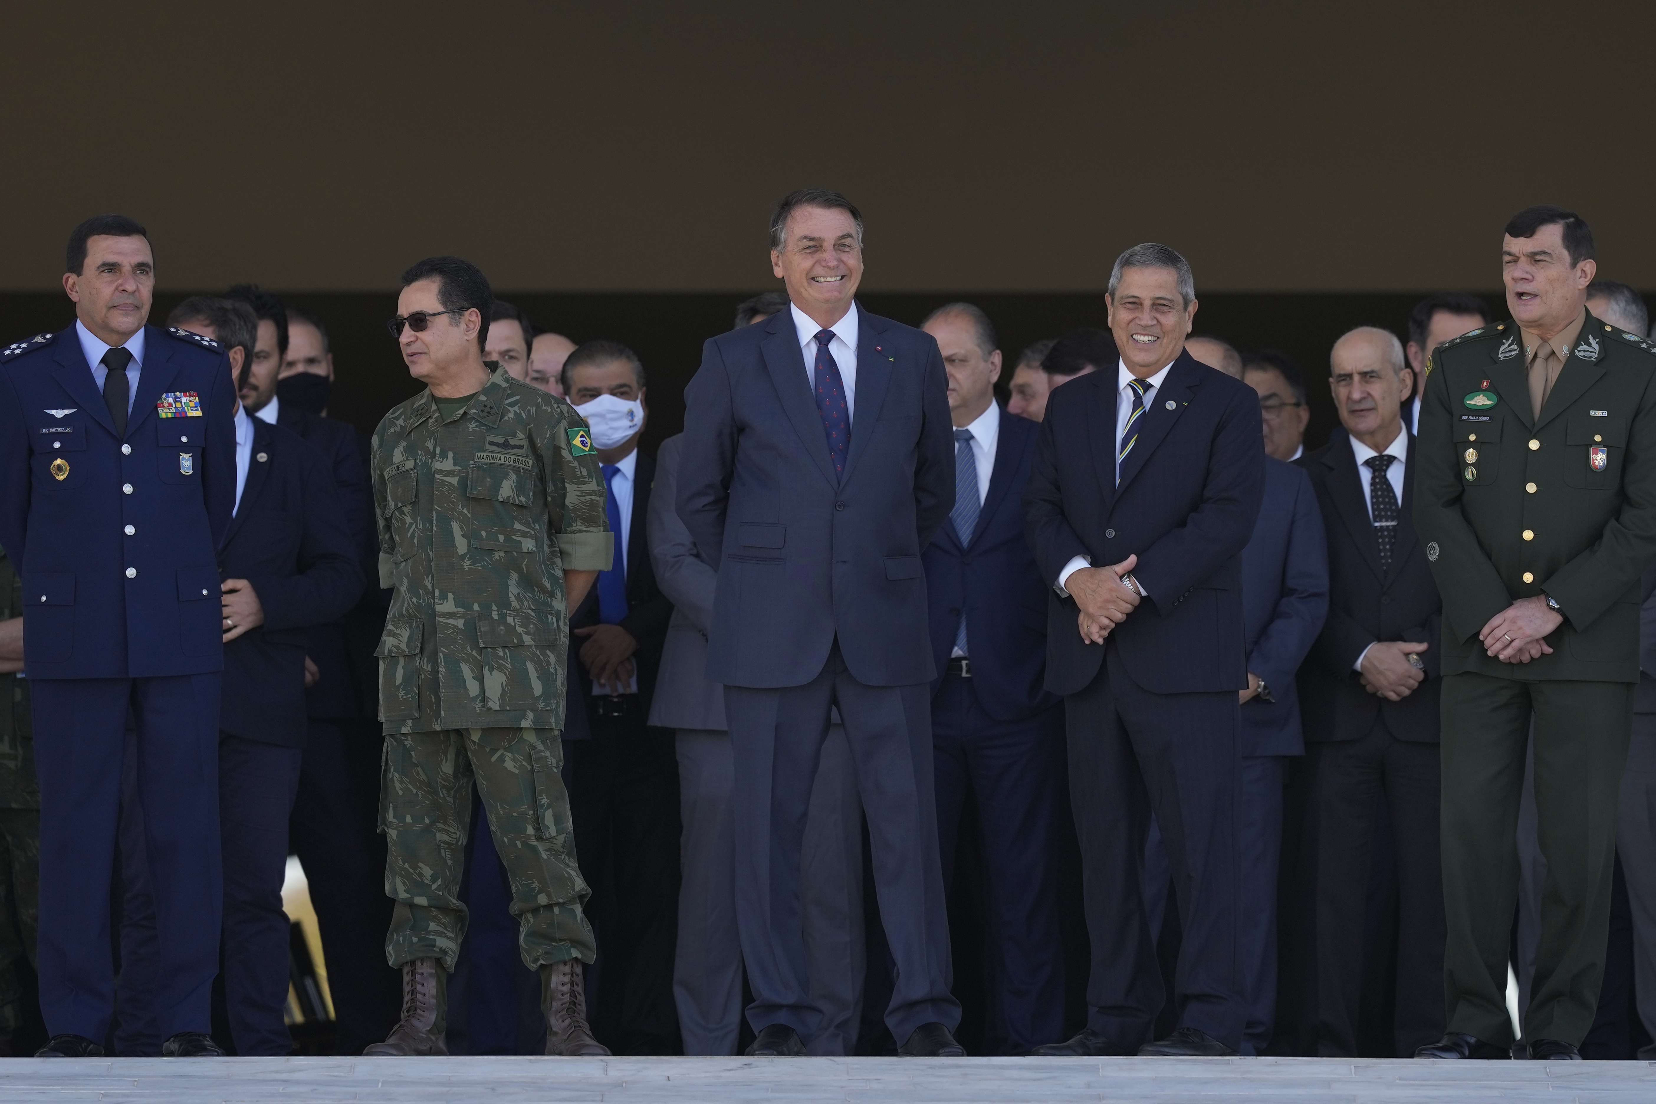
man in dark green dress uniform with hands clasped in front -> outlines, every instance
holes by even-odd
[[[1507,947],[1530,718],[1547,857],[1524,1038],[1580,1058],[1610,922],[1616,793],[1656,559],[1656,353],[1586,311],[1586,223],[1507,223],[1512,318],[1427,361],[1414,525],[1444,601],[1447,1033],[1418,1058],[1507,1058]]]

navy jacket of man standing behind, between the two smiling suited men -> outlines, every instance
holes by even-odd
[[[970,543],[946,521],[926,546],[932,662],[941,672],[967,616],[972,689],[995,720],[1023,720],[1058,698],[1047,694],[1047,584],[1023,536],[1023,485],[1040,425],[1000,412],[995,465]],[[942,677],[932,680],[932,694]]]

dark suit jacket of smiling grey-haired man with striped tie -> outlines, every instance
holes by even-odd
[[[1025,505],[1042,579],[1073,556],[1105,568],[1138,556],[1149,598],[1114,627],[1121,662],[1151,694],[1242,690],[1242,548],[1265,482],[1259,394],[1187,351],[1149,394],[1116,483],[1116,369],[1047,399]],[[1171,404],[1171,409],[1169,409]],[[1047,689],[1076,694],[1105,649],[1085,644],[1073,598],[1047,602]]]

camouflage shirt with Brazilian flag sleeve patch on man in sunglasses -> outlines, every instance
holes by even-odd
[[[614,554],[585,422],[497,367],[447,419],[431,391],[396,406],[369,467],[396,588],[374,649],[384,732],[561,730],[563,573]]]

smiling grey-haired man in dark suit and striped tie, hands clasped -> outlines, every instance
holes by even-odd
[[[1184,349],[1189,263],[1136,245],[1110,273],[1119,364],[1052,392],[1025,503],[1052,584],[1047,689],[1063,694],[1093,945],[1086,1028],[1043,1054],[1235,1054],[1239,702],[1249,687],[1240,553],[1265,450],[1259,396]],[[1184,943],[1177,1026],[1143,894],[1154,813]]]

